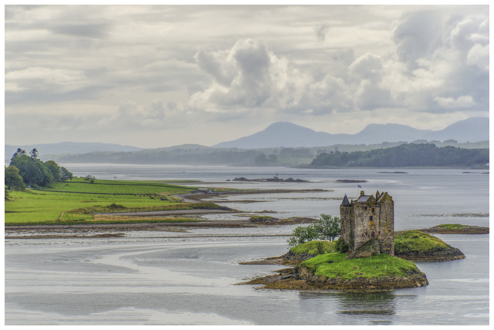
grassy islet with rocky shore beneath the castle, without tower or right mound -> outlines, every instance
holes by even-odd
[[[427,277],[409,260],[380,254],[349,259],[333,252],[335,243],[310,241],[287,254],[241,264],[286,264],[278,275],[255,278],[242,284],[262,284],[264,289],[382,291],[428,285]],[[319,254],[323,252],[323,254]]]

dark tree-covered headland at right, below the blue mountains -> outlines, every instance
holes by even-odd
[[[463,149],[411,143],[368,151],[321,153],[308,167],[473,166],[486,163],[489,163],[489,148]]]

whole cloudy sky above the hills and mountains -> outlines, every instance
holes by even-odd
[[[214,145],[489,116],[489,7],[5,6],[5,143]]]

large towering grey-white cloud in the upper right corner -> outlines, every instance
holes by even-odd
[[[413,87],[409,93],[395,92],[396,100],[405,99],[407,106],[435,113],[457,109],[454,102],[443,100],[472,99],[460,102],[463,111],[489,109],[487,28],[487,15],[405,14],[395,24],[393,41],[399,61],[408,68],[399,73],[400,84]],[[391,90],[403,90],[400,84],[391,85]]]

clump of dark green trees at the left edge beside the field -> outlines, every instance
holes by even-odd
[[[5,185],[7,189],[22,190],[26,185],[49,186],[52,182],[72,180],[73,176],[65,167],[60,167],[55,161],[42,162],[38,159],[39,152],[33,148],[29,152],[18,148],[5,166]]]

